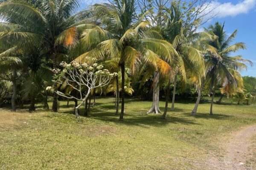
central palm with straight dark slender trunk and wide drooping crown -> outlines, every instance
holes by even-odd
[[[169,42],[161,40],[157,31],[151,31],[150,23],[144,20],[146,15],[138,17],[135,0],[113,0],[93,6],[94,16],[99,18],[100,26],[84,30],[84,45],[93,47],[76,60],[88,62],[86,57],[119,57],[121,67],[122,106],[119,119],[123,119],[125,106],[125,66],[131,74],[140,69],[140,63],[147,63],[160,73],[167,73],[175,49]],[[167,62],[166,62],[167,61]]]

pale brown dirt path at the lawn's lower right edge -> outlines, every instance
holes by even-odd
[[[217,151],[208,156],[207,170],[253,170],[245,166],[252,153],[248,151],[256,141],[250,138],[256,135],[256,125],[244,127],[242,130],[230,133],[221,139],[221,148],[224,150],[222,156]]]

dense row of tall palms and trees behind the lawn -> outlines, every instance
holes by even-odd
[[[54,71],[61,68],[59,63],[97,63],[117,74],[109,85],[92,88],[90,94],[87,87],[80,89],[86,94],[86,107],[87,98],[112,92],[122,120],[125,94],[134,93],[131,83],[143,88],[150,82],[153,101],[148,113],[160,113],[160,87],[165,84],[164,119],[171,84],[171,110],[175,109],[178,82],[191,85],[198,94],[192,115],[203,91],[212,97],[213,114],[217,90],[227,96],[244,94],[239,71],[252,62],[232,55],[246,49],[243,42],[233,43],[237,30],[228,35],[224,23],[217,22],[198,31],[215,16],[211,4],[211,0],[111,0],[81,10],[80,0],[0,0],[0,87],[12,89],[0,92],[12,95],[12,111],[17,102],[29,102],[29,111],[35,111],[37,101],[49,109],[51,99],[52,111],[57,112],[58,93],[74,96],[76,106],[79,95],[76,86],[57,81]],[[49,86],[53,91],[46,89]]]

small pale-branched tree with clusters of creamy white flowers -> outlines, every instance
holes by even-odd
[[[96,59],[93,59],[93,61],[96,61]],[[88,65],[87,63],[79,64],[73,61],[70,62],[70,64],[61,62],[60,65],[63,67],[62,71],[60,69],[52,70],[55,73],[56,82],[58,84],[71,86],[71,88],[79,92],[79,95],[71,96],[70,94],[64,94],[60,91],[56,91],[56,93],[67,99],[81,101],[75,109],[76,117],[79,117],[78,108],[84,104],[91,90],[108,85],[111,79],[117,75],[117,73],[110,73],[107,69],[103,69],[103,66],[97,63]],[[51,87],[47,87],[47,90],[50,89]]]

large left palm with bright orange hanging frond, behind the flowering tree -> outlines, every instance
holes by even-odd
[[[79,5],[80,0],[7,0],[0,4],[0,19],[17,29],[6,31],[1,37],[47,48],[45,57],[52,59],[52,67],[57,68],[57,57],[66,53],[65,47],[76,44],[78,30],[84,27],[84,19],[90,15],[86,11],[76,14]],[[53,94],[52,111],[57,112],[56,93]]]

